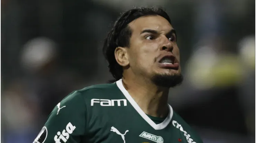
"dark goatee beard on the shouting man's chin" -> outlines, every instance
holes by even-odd
[[[168,74],[156,74],[151,79],[153,83],[160,87],[175,87],[180,85],[183,81],[183,76],[181,74],[168,75]]]

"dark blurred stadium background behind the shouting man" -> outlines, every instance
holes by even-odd
[[[33,142],[61,99],[111,79],[103,40],[142,5],[165,8],[177,31],[173,109],[204,143],[255,142],[254,0],[1,0],[1,142]]]

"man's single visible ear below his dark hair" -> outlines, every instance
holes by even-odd
[[[120,66],[125,67],[125,66],[129,65],[127,48],[125,48],[125,47],[117,47],[115,49],[115,57],[116,57],[117,63]]]

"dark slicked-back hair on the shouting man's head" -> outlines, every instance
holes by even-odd
[[[170,17],[161,7],[134,8],[122,13],[108,33],[107,38],[104,40],[103,55],[108,61],[109,72],[115,78],[110,80],[109,83],[122,78],[123,68],[116,61],[115,49],[117,47],[129,47],[132,31],[128,24],[137,18],[149,15],[159,15],[171,23]]]

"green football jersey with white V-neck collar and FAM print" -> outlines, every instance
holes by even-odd
[[[166,118],[145,114],[121,79],[86,87],[57,104],[34,143],[202,143],[168,107]]]

